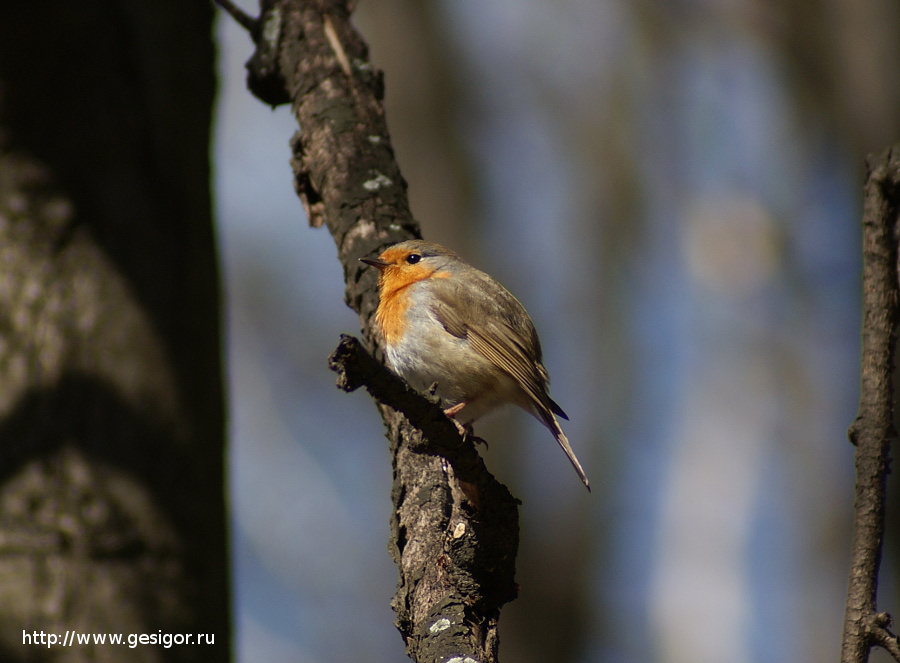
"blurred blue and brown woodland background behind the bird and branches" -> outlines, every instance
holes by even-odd
[[[527,415],[479,424],[523,502],[503,659],[836,660],[860,191],[900,138],[900,7],[360,0],[355,23],[425,237],[528,308],[595,486]],[[387,443],[326,367],[357,320],[290,112],[246,91],[247,35],[218,38],[239,660],[405,660]]]

